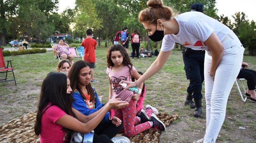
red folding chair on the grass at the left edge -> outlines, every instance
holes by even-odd
[[[3,59],[3,52],[2,52],[2,49],[0,48],[0,74],[1,73],[6,73],[5,74],[5,79],[0,79],[0,83],[1,82],[14,81],[15,85],[17,85],[16,84],[16,79],[15,79],[15,76],[14,76],[14,72],[13,72],[14,68],[12,67],[12,60],[6,60],[6,61],[7,61],[7,67],[5,66],[5,63],[4,63],[5,61]],[[11,65],[10,68],[9,68],[9,62],[10,62],[10,65]],[[12,72],[14,79],[6,80],[7,79],[7,73],[9,73],[9,72]],[[2,81],[2,80],[4,80],[4,81]]]

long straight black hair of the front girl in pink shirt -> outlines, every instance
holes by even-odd
[[[58,72],[49,73],[44,78],[38,102],[37,118],[34,126],[36,135],[39,135],[41,132],[42,115],[51,106],[58,106],[65,113],[76,118],[71,106],[72,97],[70,94],[67,94],[67,78],[68,77],[65,74]],[[47,107],[50,103],[51,105]],[[63,128],[63,130],[68,134],[71,132],[71,130],[67,128]]]

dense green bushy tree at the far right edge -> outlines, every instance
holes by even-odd
[[[244,48],[248,49],[249,55],[256,56],[256,24],[252,20],[242,21],[238,28],[239,39]]]

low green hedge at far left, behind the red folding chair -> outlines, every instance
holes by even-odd
[[[35,53],[45,53],[46,49],[37,49],[32,48],[29,50],[18,50],[18,51],[3,51],[3,56],[11,56],[11,55],[22,55],[22,54],[35,54]]]

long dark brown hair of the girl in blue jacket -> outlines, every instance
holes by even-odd
[[[71,89],[73,89],[71,94],[73,94],[73,92],[76,89],[77,91],[79,91],[79,93],[83,99],[85,99],[84,94],[83,94],[82,90],[79,88],[79,86],[77,85],[77,82],[78,82],[80,70],[84,67],[89,67],[89,63],[82,61],[82,60],[76,61],[72,64],[72,66],[69,69],[69,73],[68,73],[68,77],[70,80],[70,87],[71,87]],[[87,89],[88,93],[90,94],[90,102],[94,102],[95,97],[94,97],[93,89],[91,88],[91,83],[86,85],[86,89]]]

